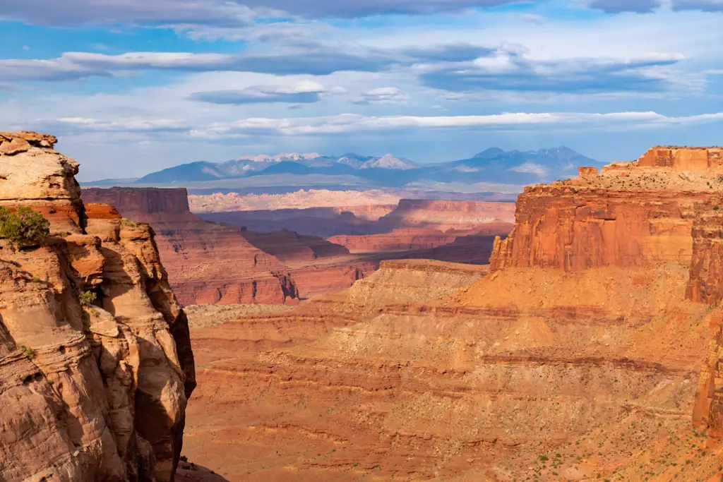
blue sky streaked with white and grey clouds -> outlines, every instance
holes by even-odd
[[[723,144],[723,0],[0,0],[0,130],[81,181],[319,152]]]

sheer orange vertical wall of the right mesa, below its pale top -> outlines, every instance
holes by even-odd
[[[695,205],[703,199],[703,192],[528,187],[517,202],[515,228],[495,242],[492,270],[687,265]]]

